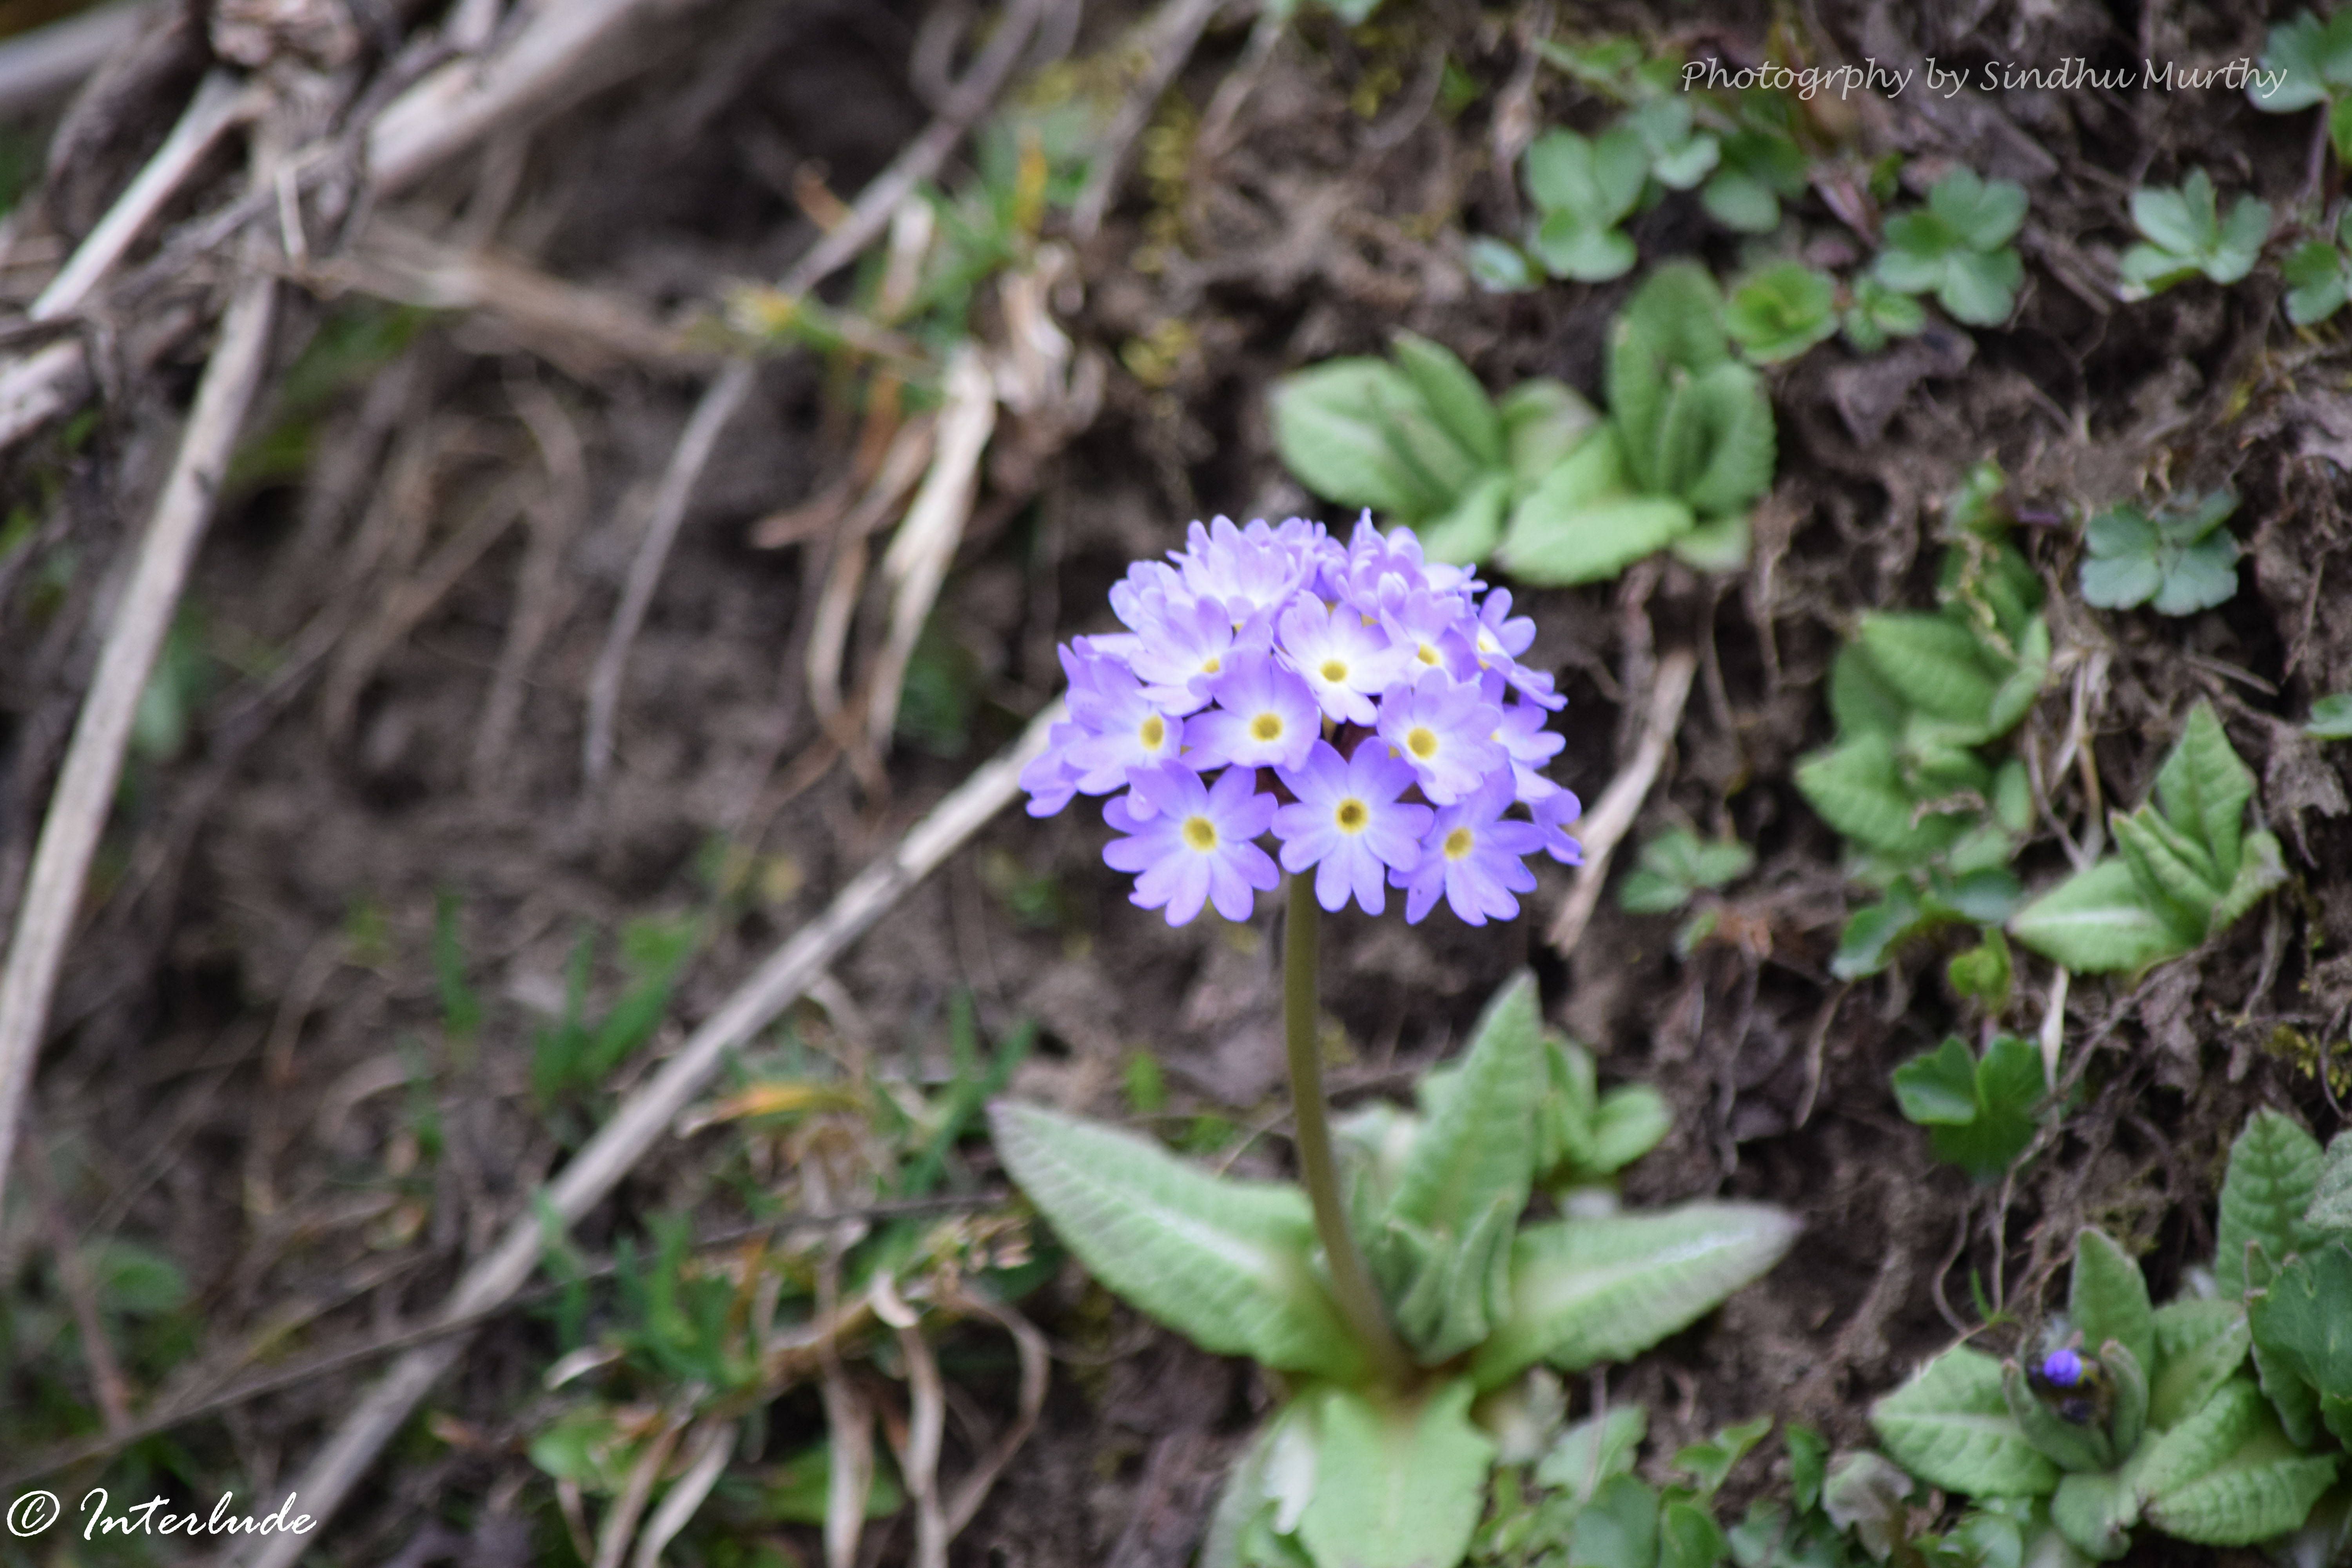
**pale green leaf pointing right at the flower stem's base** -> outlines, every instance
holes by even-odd
[[[1623,1361],[1759,1279],[1799,1222],[1762,1204],[1684,1204],[1529,1225],[1510,1260],[1510,1312],[1470,1359],[1501,1387],[1534,1361]]]

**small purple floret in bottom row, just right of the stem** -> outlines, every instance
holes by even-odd
[[[1315,867],[1315,903],[1338,910],[1348,893],[1378,914],[1388,905],[1388,875],[1421,863],[1421,835],[1435,811],[1397,797],[1414,788],[1414,771],[1374,738],[1341,757],[1317,741],[1303,769],[1282,769],[1298,804],[1275,811],[1282,870]]]

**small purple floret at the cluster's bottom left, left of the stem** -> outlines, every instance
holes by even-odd
[[[1134,790],[1150,816],[1127,797],[1103,806],[1103,820],[1129,835],[1103,849],[1112,870],[1136,872],[1129,896],[1145,910],[1167,910],[1181,926],[1214,903],[1225,919],[1249,919],[1256,893],[1282,884],[1272,858],[1251,844],[1275,818],[1275,797],[1258,795],[1256,769],[1225,769],[1214,788],[1200,773],[1164,762],[1136,769]]]

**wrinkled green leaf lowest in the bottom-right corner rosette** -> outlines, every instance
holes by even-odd
[[[2234,1378],[2157,1441],[2138,1483],[2147,1521],[2204,1547],[2249,1547],[2303,1523],[2336,1455],[2300,1455],[2260,1389]]]

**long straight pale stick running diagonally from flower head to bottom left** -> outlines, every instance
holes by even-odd
[[[898,849],[858,872],[814,924],[802,926],[790,943],[769,957],[546,1187],[546,1213],[574,1225],[602,1204],[703,1091],[729,1051],[767,1027],[884,910],[1014,799],[1021,790],[1021,769],[1044,750],[1047,733],[1061,719],[1063,705],[1049,703],[1007,752],[983,764],[948,799],[938,802],[927,818],[908,830]],[[442,1319],[470,1316],[506,1302],[539,1269],[546,1244],[541,1211],[520,1215],[496,1251],[466,1269],[442,1305]],[[461,1349],[463,1335],[414,1349],[386,1373],[383,1382],[369,1389],[327,1448],[301,1472],[296,1490],[315,1519],[325,1521],[334,1514],[350,1486]],[[261,1542],[261,1549],[249,1559],[252,1568],[294,1568],[306,1544],[301,1535],[275,1535]]]

